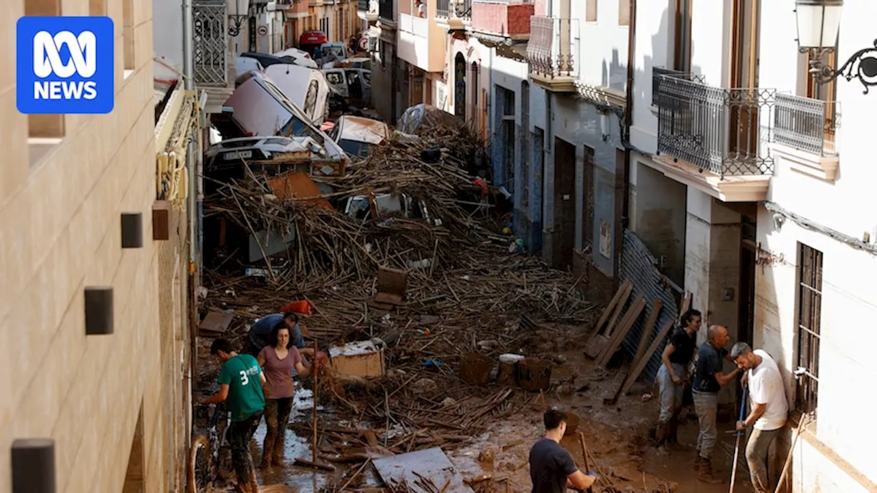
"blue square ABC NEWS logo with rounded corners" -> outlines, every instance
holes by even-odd
[[[116,97],[113,38],[113,22],[107,17],[19,18],[18,111],[27,114],[112,111]]]

